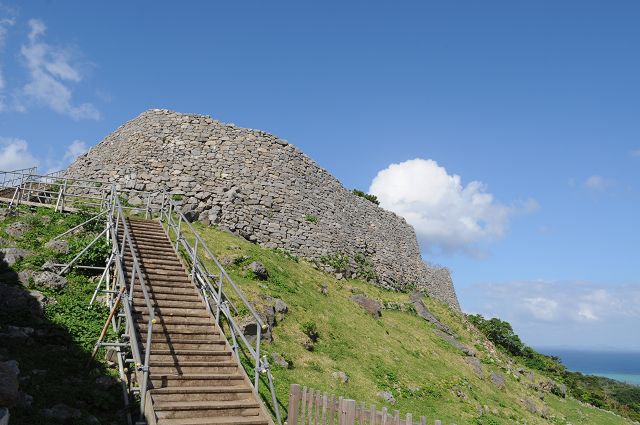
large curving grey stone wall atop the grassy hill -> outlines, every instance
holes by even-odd
[[[371,268],[380,286],[417,287],[459,309],[448,271],[423,262],[403,218],[353,195],[296,147],[263,131],[150,110],[80,156],[67,175],[166,189],[207,224],[319,263],[344,254],[348,276]]]

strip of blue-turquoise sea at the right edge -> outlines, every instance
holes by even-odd
[[[560,357],[567,369],[604,376],[640,386],[640,352],[581,351],[541,348],[538,351]]]

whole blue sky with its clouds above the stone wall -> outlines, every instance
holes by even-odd
[[[465,311],[640,350],[640,4],[234,3],[0,0],[0,168],[149,108],[260,128],[406,216]]]

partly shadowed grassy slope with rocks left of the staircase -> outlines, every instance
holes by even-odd
[[[36,253],[35,256],[16,263],[13,271],[39,270],[45,261],[51,259],[68,261],[93,238],[93,229],[65,238],[72,249],[68,255],[55,254],[45,248],[44,244],[85,219],[81,214],[59,214],[47,208],[35,212],[22,209],[16,217],[0,218],[0,237],[8,241],[8,245],[16,245]],[[10,237],[4,229],[16,221],[29,223],[31,230],[22,237]],[[93,250],[92,254],[93,260],[98,261],[104,250]],[[104,260],[101,262],[104,264]],[[33,397],[31,407],[11,409],[11,424],[50,424],[52,420],[42,416],[41,411],[58,403],[78,408],[82,412],[83,416],[69,422],[70,424],[91,423],[91,417],[103,424],[122,423],[119,411],[123,403],[119,386],[104,389],[95,385],[97,377],[117,376],[117,373],[106,368],[102,360],[104,353],[98,355],[99,361],[92,367],[86,367],[108,311],[104,305],[88,307],[95,288],[95,283],[88,276],[72,272],[67,275],[67,279],[66,288],[60,291],[33,285],[26,288],[42,292],[49,300],[44,320],[26,313],[20,317],[7,317],[0,312],[0,333],[6,326],[28,326],[44,332],[43,336],[23,342],[0,337],[0,359],[4,357],[18,361],[21,371],[20,389]]]

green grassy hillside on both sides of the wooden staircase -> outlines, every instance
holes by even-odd
[[[3,288],[24,288],[15,279],[19,272],[36,271],[49,259],[68,259],[71,254],[55,253],[44,246],[52,236],[83,219],[82,214],[63,215],[47,209],[2,219],[3,246],[37,253],[18,260],[2,275]],[[11,236],[7,226],[15,222],[27,223],[29,229],[22,236]],[[432,318],[438,323],[434,325],[417,314],[415,303],[419,302],[407,293],[361,280],[338,280],[285,251],[263,248],[212,227],[196,224],[196,228],[215,255],[228,264],[229,273],[259,310],[268,310],[275,299],[287,306],[283,316],[276,314],[273,341],[262,346],[269,353],[282,409],[286,409],[289,385],[300,383],[403,414],[425,415],[430,423],[433,419],[458,425],[631,423],[556,395],[561,393],[558,385],[549,385],[549,378],[538,372],[531,375],[519,360],[497,350],[464,315],[439,301],[421,299],[437,318]],[[92,234],[88,229],[69,239],[70,252]],[[101,254],[96,250],[89,260],[99,263]],[[253,261],[264,264],[269,275],[266,280],[258,280],[247,269]],[[71,273],[67,285],[60,289],[43,288],[33,279],[26,285],[23,292],[38,290],[48,301],[42,303],[42,319],[28,314],[23,318],[0,315],[0,360],[19,362],[20,388],[33,397],[28,407],[23,404],[12,411],[11,423],[51,423],[44,416],[46,409],[58,403],[77,410],[79,417],[67,423],[122,423],[118,387],[96,385],[116,376],[103,360],[104,353],[94,367],[83,367],[107,314],[101,306],[87,308],[93,289],[91,276]],[[381,316],[377,317],[375,308],[374,315],[366,312],[352,300],[354,296],[379,302]],[[8,336],[14,329],[10,326],[34,327],[36,335],[49,335],[38,333],[41,329],[55,330],[58,336],[34,336],[18,344]],[[318,338],[310,343],[307,335],[314,330]],[[448,337],[447,332],[455,337]],[[64,356],[57,354],[61,351]],[[279,365],[274,354],[291,366]],[[51,362],[54,357],[56,361]],[[266,386],[261,388],[267,399]],[[387,400],[394,400],[384,401],[382,393]]]

